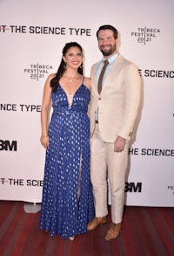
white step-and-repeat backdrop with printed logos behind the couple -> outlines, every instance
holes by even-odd
[[[127,205],[174,205],[172,0],[0,0],[0,199],[40,203],[43,85],[65,43],[84,48],[84,71],[102,58],[96,31],[112,24],[119,52],[142,78],[140,114],[125,183]]]

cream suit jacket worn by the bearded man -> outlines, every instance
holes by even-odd
[[[130,141],[140,101],[140,75],[133,63],[118,55],[107,74],[102,92],[96,84],[97,64],[91,67],[90,136],[98,125],[104,142],[115,142],[117,136]]]

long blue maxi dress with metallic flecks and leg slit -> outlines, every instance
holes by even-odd
[[[58,85],[51,93],[53,113],[46,150],[40,227],[69,238],[87,230],[94,216],[90,183],[89,89],[82,84],[73,96]],[[80,197],[78,190],[80,189]]]

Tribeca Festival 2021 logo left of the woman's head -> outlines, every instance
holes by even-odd
[[[30,64],[30,66],[23,69],[24,73],[29,74],[31,80],[44,79],[45,74],[48,75],[53,69],[51,65]]]

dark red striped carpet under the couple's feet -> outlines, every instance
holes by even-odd
[[[39,212],[25,213],[23,202],[0,201],[0,256],[173,256],[174,208],[125,206],[120,236],[107,242],[110,224],[74,241],[39,229]]]

